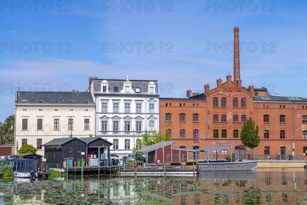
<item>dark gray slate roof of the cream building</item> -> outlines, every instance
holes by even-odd
[[[17,92],[16,104],[93,104],[89,92]]]

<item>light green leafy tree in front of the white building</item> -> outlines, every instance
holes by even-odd
[[[166,130],[164,134],[162,134],[160,131],[157,132],[156,130],[154,130],[151,134],[149,134],[146,130],[145,133],[142,134],[142,139],[138,138],[139,147],[135,148],[135,150],[156,144],[160,141],[169,141],[169,140],[170,140],[170,133],[168,132],[168,130]]]

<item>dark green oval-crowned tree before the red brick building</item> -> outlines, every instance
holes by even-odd
[[[260,144],[260,137],[258,136],[259,127],[255,127],[255,121],[252,117],[249,117],[246,122],[244,122],[242,131],[240,132],[240,138],[243,145],[251,148],[258,147]]]

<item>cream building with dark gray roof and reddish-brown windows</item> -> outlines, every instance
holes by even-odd
[[[95,135],[95,104],[89,92],[17,92],[15,149],[37,148],[54,138]],[[15,153],[16,153],[15,150]]]

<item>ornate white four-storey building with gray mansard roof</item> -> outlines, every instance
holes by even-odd
[[[112,142],[114,153],[132,153],[146,130],[159,131],[157,80],[90,78],[89,91],[96,103],[96,136]]]

